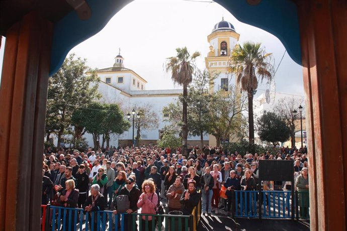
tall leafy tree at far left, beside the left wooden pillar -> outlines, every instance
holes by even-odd
[[[45,131],[47,137],[50,133],[58,136],[57,148],[70,126],[72,112],[100,97],[98,82],[98,75],[86,65],[86,59],[76,58],[75,54],[70,54],[49,78]]]

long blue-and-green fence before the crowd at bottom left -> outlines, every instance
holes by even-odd
[[[199,202],[200,204],[201,202]],[[45,213],[42,214],[42,230],[85,230],[85,231],[131,231],[131,230],[143,230],[154,231],[155,226],[158,226],[158,230],[161,227],[165,227],[165,231],[188,231],[196,230],[199,222],[201,206],[194,208],[195,215],[169,215],[169,214],[141,214],[141,213],[122,213],[113,214],[112,211],[94,211],[87,212],[81,208],[67,208],[52,205],[41,206],[45,209]],[[45,216],[45,217],[44,217]],[[151,216],[154,219],[148,220]],[[122,219],[120,219],[122,217]],[[142,217],[145,219],[142,220]],[[127,219],[131,220],[127,220]],[[119,225],[119,220],[121,224]],[[169,222],[170,220],[170,222]],[[127,222],[127,223],[126,223]],[[142,227],[142,223],[145,222],[146,228],[138,229]],[[151,230],[148,228],[148,224],[151,222]],[[164,225],[162,224],[164,222]],[[170,225],[170,227],[169,227]],[[119,227],[120,226],[120,227]],[[130,227],[129,227],[130,226]]]

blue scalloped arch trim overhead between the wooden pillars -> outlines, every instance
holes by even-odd
[[[133,0],[89,0],[89,20],[82,21],[70,12],[54,25],[50,73],[52,76],[67,53],[77,44],[101,31],[110,19]],[[240,22],[261,28],[281,40],[289,56],[301,65],[301,47],[297,7],[290,0],[262,0],[249,5],[246,0],[215,0]]]

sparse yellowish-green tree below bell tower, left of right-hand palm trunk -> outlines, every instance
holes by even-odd
[[[216,138],[217,146],[221,140],[229,139],[230,133],[241,130],[244,120],[242,113],[247,110],[247,95],[239,93],[236,86],[229,86],[213,94],[209,106],[209,133]]]

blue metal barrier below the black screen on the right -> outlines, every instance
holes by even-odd
[[[262,217],[291,218],[290,191],[235,191],[235,217],[258,217],[262,209]]]

